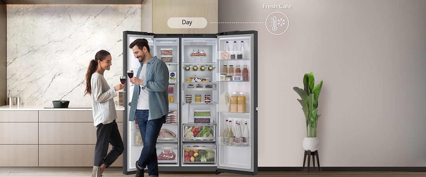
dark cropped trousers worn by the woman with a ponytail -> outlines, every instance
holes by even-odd
[[[121,135],[115,120],[109,124],[98,124],[96,127],[98,127],[98,129],[96,130],[93,166],[101,166],[102,163],[104,163],[108,168],[121,154],[123,154],[123,140],[121,140]],[[107,154],[109,143],[112,149]]]

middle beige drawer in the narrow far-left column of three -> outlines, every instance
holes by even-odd
[[[37,122],[0,122],[0,144],[37,144],[37,132]]]

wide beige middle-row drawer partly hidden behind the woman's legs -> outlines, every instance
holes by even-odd
[[[117,123],[123,138],[123,123]],[[96,130],[92,122],[40,122],[39,144],[96,144]]]

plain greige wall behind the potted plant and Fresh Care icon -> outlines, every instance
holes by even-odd
[[[243,3],[244,2],[244,3]],[[292,9],[263,9],[262,4]],[[219,22],[265,22],[280,11],[288,31],[259,31],[259,166],[301,166],[304,73],[323,80],[321,166],[426,166],[426,1],[219,0]],[[277,97],[279,96],[279,97]]]

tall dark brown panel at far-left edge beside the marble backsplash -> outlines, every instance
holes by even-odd
[[[6,4],[0,0],[0,106],[6,105]]]

